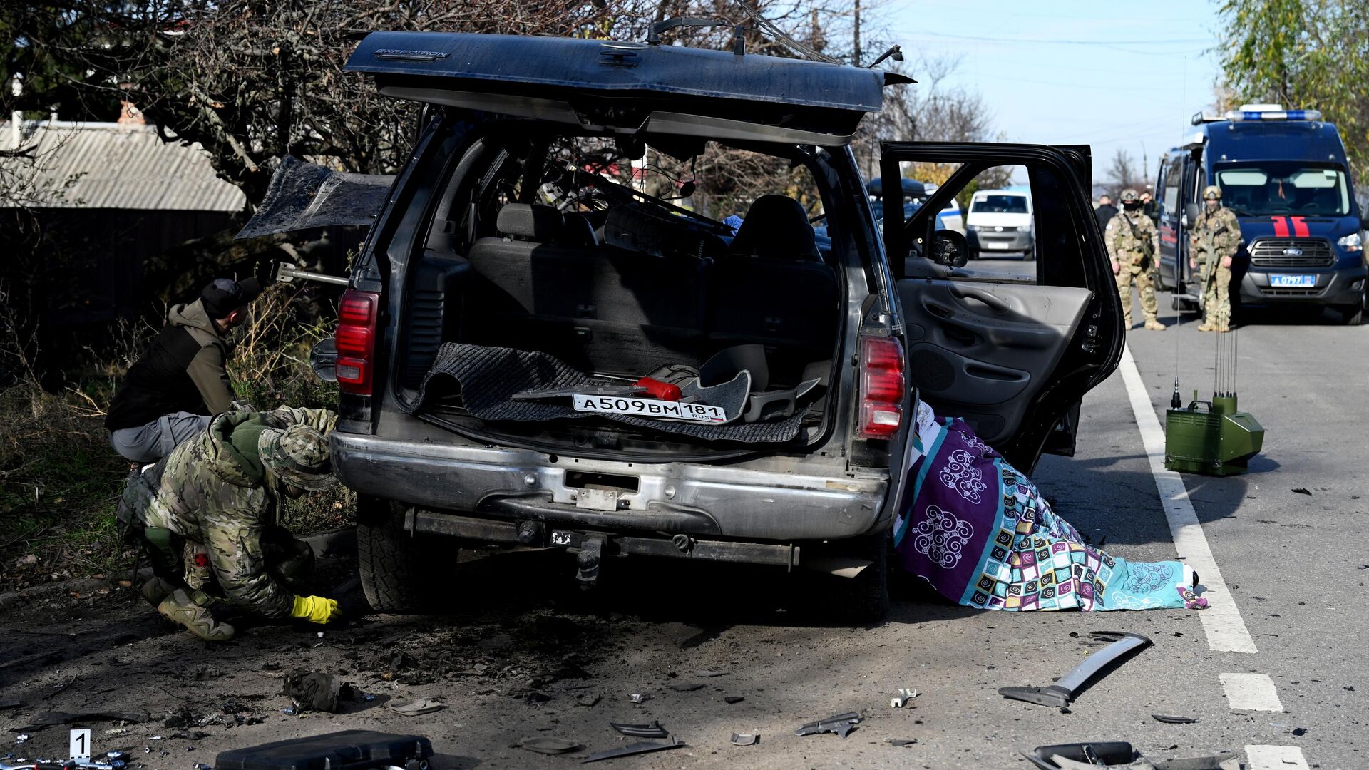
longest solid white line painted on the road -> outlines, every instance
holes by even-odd
[[[1217,569],[1217,560],[1207,547],[1207,537],[1188,500],[1183,477],[1165,470],[1165,432],[1160,427],[1160,418],[1150,404],[1150,395],[1140,381],[1129,347],[1123,348],[1121,366],[1117,369],[1127,385],[1127,396],[1131,399],[1131,411],[1136,417],[1146,456],[1150,458],[1150,474],[1155,477],[1155,489],[1160,492],[1160,503],[1165,507],[1165,519],[1169,521],[1175,548],[1179,551],[1179,558],[1198,573],[1198,580],[1207,588],[1203,596],[1207,597],[1209,606],[1198,611],[1198,619],[1207,633],[1207,647],[1220,652],[1257,652],[1255,640],[1250,638],[1240,608],[1236,607],[1227,582],[1221,580],[1221,570]]]

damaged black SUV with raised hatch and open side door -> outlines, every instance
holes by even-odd
[[[412,160],[290,163],[245,234],[370,225],[319,369],[378,610],[415,607],[450,537],[563,548],[582,581],[627,555],[828,573],[832,607],[878,618],[910,389],[1025,470],[1072,451],[1120,358],[1087,148],[886,142],[883,177],[949,177],[876,221],[850,144],[901,75],[439,33],[372,33],[348,70],[424,104]],[[695,189],[749,167],[784,184]],[[1034,275],[965,270],[934,232],[1006,167],[1035,199]]]

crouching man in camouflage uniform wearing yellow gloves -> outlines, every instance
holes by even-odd
[[[285,497],[337,482],[335,422],[327,410],[223,412],[130,478],[119,521],[149,545],[157,577],[142,595],[163,617],[211,641],[234,633],[209,612],[218,603],[267,618],[340,617],[333,599],[294,593],[312,552],[278,523]]]

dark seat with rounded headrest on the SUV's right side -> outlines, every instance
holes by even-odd
[[[756,199],[728,255],[713,266],[708,292],[711,348],[760,343],[782,380],[831,358],[839,284],[797,200]]]

